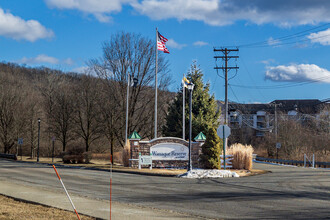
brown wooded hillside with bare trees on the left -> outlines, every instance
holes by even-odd
[[[88,74],[64,73],[45,67],[0,63],[0,149],[16,153],[23,138],[23,154],[35,153],[40,118],[40,154],[81,147],[106,152],[124,146],[127,78],[115,80]],[[158,92],[158,127],[165,123],[174,94]],[[128,133],[153,138],[154,88],[140,80],[130,87]]]

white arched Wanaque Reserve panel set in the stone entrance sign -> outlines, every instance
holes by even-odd
[[[188,160],[189,150],[183,144],[160,143],[150,148],[152,160]]]

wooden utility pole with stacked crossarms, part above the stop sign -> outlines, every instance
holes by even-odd
[[[238,52],[238,48],[236,49],[228,49],[228,48],[214,48],[213,49],[214,52],[222,52],[223,56],[214,56],[215,60],[218,61],[218,59],[222,59],[222,61],[224,61],[225,66],[221,66],[221,67],[214,67],[214,69],[218,70],[224,70],[225,72],[225,124],[228,123],[228,70],[231,69],[239,69],[238,66],[228,66],[228,61],[231,58],[237,59],[239,58],[239,56],[228,56],[230,52]]]

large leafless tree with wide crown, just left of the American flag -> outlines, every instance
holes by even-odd
[[[90,67],[109,87],[107,95],[115,105],[111,107],[116,111],[110,117],[109,125],[112,128],[107,136],[115,135],[121,146],[125,144],[127,77],[138,79],[136,87],[130,89],[129,94],[129,133],[136,130],[144,137],[150,134],[154,113],[154,92],[151,88],[155,79],[155,49],[155,42],[137,34],[121,32],[103,44],[102,58],[89,62]],[[160,85],[163,90],[170,82],[167,73],[167,61],[160,55],[158,74],[159,82],[163,82]],[[116,127],[119,123],[120,126]]]

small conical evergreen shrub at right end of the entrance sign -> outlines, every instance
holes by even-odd
[[[223,150],[222,141],[215,128],[210,128],[206,141],[202,146],[201,163],[207,169],[220,169],[220,154]]]

